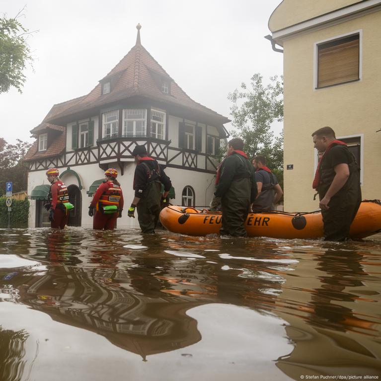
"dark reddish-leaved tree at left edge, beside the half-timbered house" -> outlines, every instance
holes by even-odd
[[[26,190],[28,169],[22,159],[31,144],[17,139],[16,144],[7,144],[0,138],[0,196],[5,193],[5,182],[13,182],[13,193]]]

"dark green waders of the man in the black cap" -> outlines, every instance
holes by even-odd
[[[138,221],[143,233],[154,233],[160,214],[161,182],[152,181],[137,204]]]

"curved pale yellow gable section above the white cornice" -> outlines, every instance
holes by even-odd
[[[359,0],[283,0],[269,19],[272,32],[310,18],[361,2]]]

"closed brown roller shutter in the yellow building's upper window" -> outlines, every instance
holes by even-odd
[[[317,87],[359,79],[359,36],[318,46]]]

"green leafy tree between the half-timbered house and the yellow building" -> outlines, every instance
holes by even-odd
[[[274,136],[271,130],[272,123],[283,121],[283,77],[270,77],[265,86],[263,77],[256,73],[250,85],[242,83],[239,90],[229,93],[232,135],[244,141],[249,157],[266,156],[269,167],[283,177],[283,133]]]

